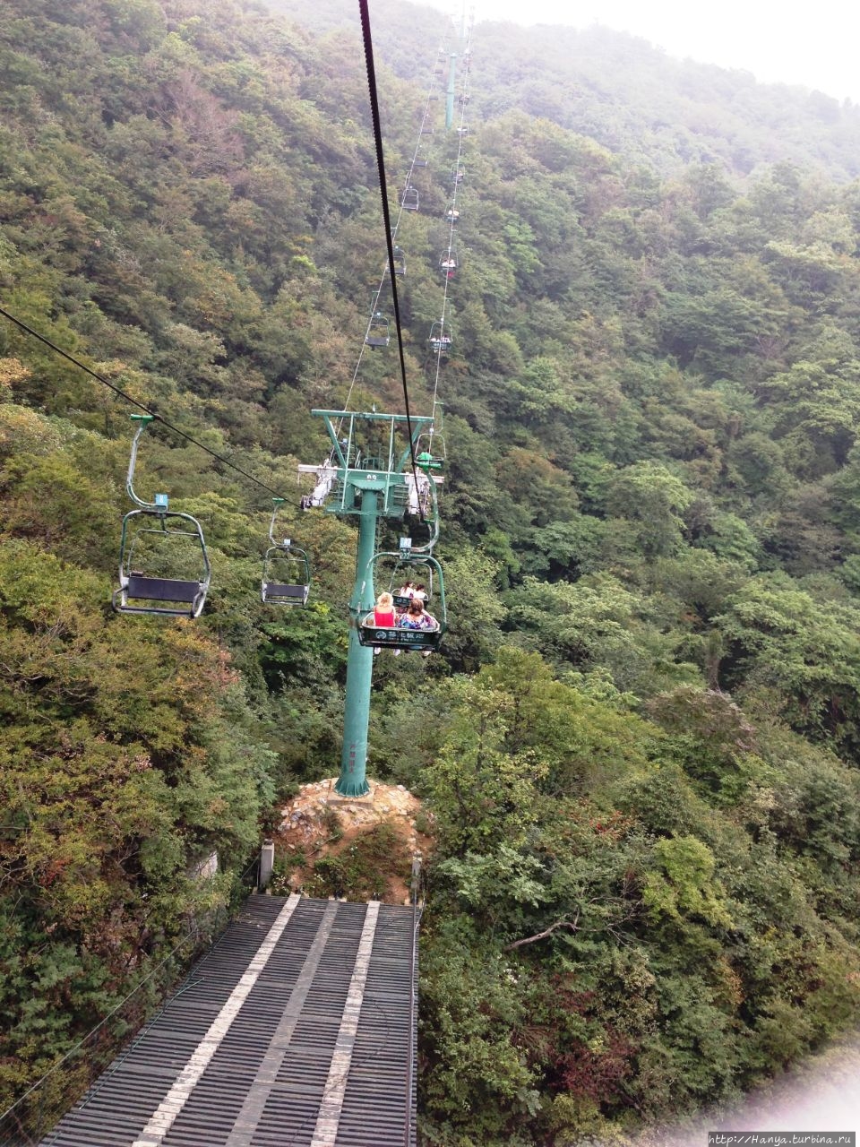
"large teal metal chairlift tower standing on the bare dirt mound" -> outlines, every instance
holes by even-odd
[[[341,796],[363,796],[367,783],[367,728],[370,718],[370,684],[374,651],[358,638],[359,618],[376,604],[373,559],[376,526],[381,517],[402,518],[420,505],[421,491],[412,469],[412,455],[419,455],[419,439],[432,434],[431,416],[357,413],[353,411],[311,411],[321,418],[331,440],[331,451],[322,466],[299,466],[300,474],[314,474],[316,485],[304,501],[328,514],[358,517],[359,540],[355,580],[350,598],[350,647],[346,656],[346,699],[344,704],[341,773],[335,790]],[[411,443],[402,446],[409,435]],[[372,437],[377,453],[368,453],[365,440]],[[408,442],[408,439],[407,439]],[[433,487],[441,481],[429,474],[430,465],[420,463],[419,482]],[[436,505],[436,498],[432,498]],[[430,523],[432,549],[439,531],[438,514]]]

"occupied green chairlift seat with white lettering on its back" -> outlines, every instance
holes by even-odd
[[[407,580],[423,582],[428,592],[428,601],[424,604],[427,606],[430,599],[433,599],[433,612],[431,616],[435,618],[436,627],[412,630],[397,624],[397,622],[393,626],[378,626],[376,625],[375,610],[353,610],[359,643],[362,646],[373,646],[375,649],[414,649],[422,653],[438,649],[443,635],[448,627],[447,607],[445,603],[445,578],[441,567],[431,554],[413,551],[411,538],[401,538],[398,552],[383,551],[374,554],[367,564],[366,580],[369,578],[370,583],[374,584],[374,575],[377,571],[378,563],[384,565],[389,562],[393,562],[390,576],[390,592],[394,599],[396,607],[407,610],[412,600],[408,596],[394,593],[396,588],[401,587]],[[421,570],[422,572],[416,576],[416,570]],[[402,617],[405,615],[400,614],[399,616]]]

